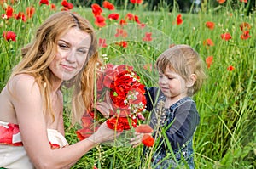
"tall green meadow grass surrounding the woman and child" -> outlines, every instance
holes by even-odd
[[[37,1],[35,1],[37,2]],[[30,42],[35,29],[42,21],[53,14],[48,6],[39,6],[34,1],[15,4],[15,13],[25,12],[27,6],[34,5],[36,13],[32,20],[0,20],[0,33],[3,31],[15,31],[16,42],[6,42],[0,38],[0,88],[7,82],[13,66],[20,60],[20,48]],[[57,4],[57,10],[61,10],[61,4]],[[143,65],[153,64],[157,56],[168,48],[171,43],[186,43],[195,48],[201,54],[202,59],[213,56],[213,63],[207,69],[207,82],[201,88],[200,93],[194,97],[201,115],[201,123],[194,137],[195,166],[196,168],[255,168],[256,132],[255,132],[255,98],[256,98],[256,30],[255,13],[243,14],[244,7],[230,8],[229,3],[219,8],[207,8],[205,12],[198,14],[182,14],[183,24],[175,25],[176,10],[172,13],[162,8],[160,12],[143,12],[143,6],[133,11],[115,10],[122,17],[128,12],[137,14],[141,22],[148,25],[152,31],[155,42],[143,42],[140,39],[130,41],[127,48],[115,45],[116,21],[107,21],[107,28],[96,27],[99,37],[108,38],[107,48],[100,48],[100,54],[108,54],[108,60],[114,64],[126,63],[134,66],[141,76],[143,83],[154,86],[157,82],[157,74],[153,70],[143,69]],[[90,8],[74,8],[73,11],[83,15],[91,23],[94,23]],[[1,14],[4,11],[1,9]],[[110,11],[104,9],[104,14]],[[206,21],[215,23],[214,30],[205,26]],[[242,22],[249,23],[251,37],[241,40],[239,25]],[[131,22],[130,22],[131,23]],[[134,24],[134,23],[133,23]],[[111,29],[110,29],[111,28]],[[111,30],[111,31],[109,31]],[[136,31],[136,32],[134,32]],[[106,34],[105,32],[108,32]],[[145,31],[131,30],[130,35],[143,37]],[[230,41],[224,41],[220,35],[230,32]],[[129,32],[130,33],[130,32]],[[207,48],[203,42],[211,38],[214,46]],[[120,41],[122,39],[118,39]],[[167,40],[169,40],[167,42]],[[228,71],[232,65],[235,70]],[[68,94],[67,94],[68,96]],[[70,98],[65,98],[65,127],[66,138],[70,144],[76,143],[76,128],[69,128],[68,121]],[[153,148],[154,150],[155,148]],[[133,149],[129,146],[113,147],[100,145],[91,149],[89,153],[77,162],[73,168],[139,168],[143,146]],[[148,158],[149,159],[149,158]],[[150,161],[146,159],[142,166],[148,168]]]

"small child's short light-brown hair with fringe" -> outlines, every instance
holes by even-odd
[[[175,45],[168,48],[156,60],[157,69],[165,72],[166,68],[173,70],[179,76],[188,82],[189,76],[195,74],[196,81],[192,87],[189,87],[188,95],[192,96],[201,88],[206,79],[205,66],[199,54],[189,45]]]

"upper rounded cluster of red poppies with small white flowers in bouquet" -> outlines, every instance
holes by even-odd
[[[98,99],[108,91],[113,110],[110,110],[108,127],[119,132],[137,127],[137,120],[144,120],[146,109],[144,85],[128,65],[106,65],[97,80]],[[103,98],[102,98],[103,96]]]

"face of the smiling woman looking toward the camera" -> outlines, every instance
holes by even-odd
[[[49,65],[49,69],[61,81],[72,79],[84,66],[90,42],[90,34],[77,27],[71,28],[59,39],[58,53]]]

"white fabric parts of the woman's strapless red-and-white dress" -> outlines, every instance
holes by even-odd
[[[0,121],[0,127],[8,128],[7,122]],[[47,129],[48,140],[51,144],[59,145],[60,148],[66,146],[67,140],[54,129]],[[1,133],[0,133],[1,134]],[[21,141],[20,132],[13,135],[13,143]],[[9,169],[31,169],[34,168],[23,146],[13,146],[7,144],[0,144],[0,167]]]

